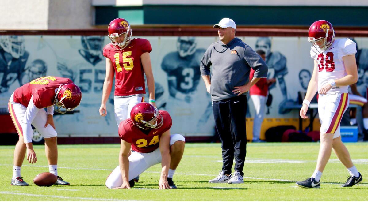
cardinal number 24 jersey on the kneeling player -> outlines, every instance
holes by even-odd
[[[162,133],[169,130],[171,127],[171,117],[167,111],[160,110],[159,113],[163,118],[163,125],[158,129],[149,129],[143,132],[143,129],[134,125],[132,120],[125,119],[119,126],[119,137],[132,144],[132,149],[141,153],[149,153],[155,151],[159,147],[159,141]],[[160,119],[157,120],[160,122]]]

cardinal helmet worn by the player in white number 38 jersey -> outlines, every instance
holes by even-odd
[[[308,41],[312,43],[311,49],[317,54],[323,53],[331,46],[333,37],[335,37],[335,30],[328,21],[318,20],[309,27]],[[319,41],[323,42],[320,46],[317,45]]]

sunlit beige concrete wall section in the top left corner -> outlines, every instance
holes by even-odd
[[[1,0],[0,30],[47,29],[48,0]]]

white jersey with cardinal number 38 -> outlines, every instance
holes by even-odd
[[[318,49],[319,50],[319,49]],[[311,50],[311,57],[318,63],[318,92],[329,80],[341,79],[347,75],[343,57],[355,55],[356,44],[350,39],[335,39],[327,50],[321,54]],[[348,86],[332,87],[327,94],[348,93]]]

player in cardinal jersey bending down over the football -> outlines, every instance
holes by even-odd
[[[33,150],[31,124],[45,138],[45,151],[49,171],[57,176],[55,184],[69,185],[57,173],[57,133],[54,126],[55,111],[65,113],[76,108],[82,99],[81,90],[72,80],[46,76],[32,80],[15,89],[11,95],[8,109],[17,129],[19,141],[14,150],[14,167],[11,185],[28,186],[21,177],[21,166],[27,154],[29,163],[36,163],[37,157]],[[47,108],[47,112],[44,110]],[[63,111],[61,110],[62,108]]]

